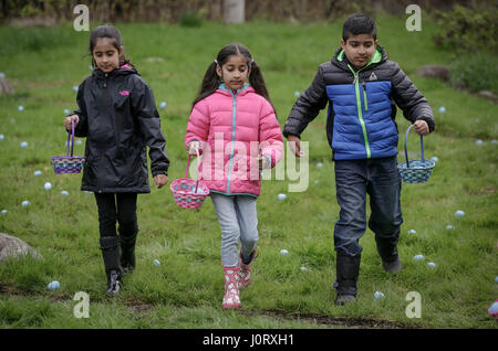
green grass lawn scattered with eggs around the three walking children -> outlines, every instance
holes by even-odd
[[[190,104],[209,62],[230,42],[246,44],[261,66],[283,126],[318,65],[335,52],[340,23],[272,24],[252,22],[199,28],[168,24],[118,24],[128,59],[151,84],[157,105],[167,102],[162,128],[172,160],[169,180],[183,177],[183,137]],[[0,328],[332,328],[305,316],[329,320],[382,320],[391,326],[426,328],[496,328],[487,313],[497,298],[497,145],[496,105],[413,76],[424,64],[447,64],[449,53],[430,38],[436,28],[406,32],[404,20],[378,19],[378,39],[427,97],[436,132],[426,138],[426,157],[439,161],[425,184],[404,184],[404,224],[400,240],[404,270],[388,275],[381,266],[373,233],[361,240],[363,256],[359,299],[336,307],[333,224],[338,220],[333,163],[324,134],[325,111],[308,127],[310,183],[305,192],[288,193],[289,179],[264,181],[258,200],[261,256],[253,284],[241,294],[238,311],[224,311],[220,230],[210,200],[199,211],[183,210],[166,187],[138,196],[137,269],[125,277],[123,294],[106,298],[98,249],[96,204],[80,191],[81,176],[55,176],[50,157],[65,152],[65,108],[75,106],[74,85],[90,71],[86,32],[72,26],[12,29],[0,26],[9,43],[0,50],[0,71],[15,89],[0,97],[0,232],[20,237],[43,260],[10,259],[0,264]],[[162,60],[154,60],[160,57]],[[18,111],[18,106],[24,107]],[[446,113],[439,113],[445,106]],[[400,150],[408,123],[398,113]],[[476,139],[484,140],[476,145]],[[19,145],[28,141],[23,149]],[[411,155],[418,140],[408,140]],[[84,152],[75,146],[75,155]],[[400,153],[404,161],[404,153]],[[317,163],[323,167],[318,168]],[[34,170],[43,174],[33,176]],[[51,191],[43,190],[50,181]],[[318,183],[315,183],[318,181]],[[61,195],[69,191],[69,196]],[[286,192],[288,199],[277,200]],[[29,200],[31,205],[22,208]],[[465,211],[456,219],[456,210]],[[455,230],[447,231],[452,224]],[[407,234],[416,230],[416,234]],[[286,248],[289,255],[280,255]],[[414,262],[423,254],[426,259]],[[162,265],[153,265],[153,259]],[[436,263],[435,269],[426,267]],[[308,270],[302,270],[307,267]],[[46,290],[52,280],[56,291]],[[374,291],[385,295],[375,300]],[[73,317],[76,291],[90,295],[90,318]],[[409,319],[408,291],[422,296],[422,318]],[[292,318],[300,313],[301,318]],[[397,325],[396,325],[397,323]],[[339,327],[347,327],[347,322]]]

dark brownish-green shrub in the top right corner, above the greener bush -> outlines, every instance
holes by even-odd
[[[455,6],[452,11],[435,12],[439,30],[434,36],[437,45],[456,52],[498,51],[498,4],[486,7]]]

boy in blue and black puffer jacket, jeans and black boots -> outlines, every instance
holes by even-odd
[[[387,60],[376,40],[374,21],[353,14],[343,25],[341,47],[320,65],[311,86],[298,98],[283,128],[302,157],[300,135],[329,104],[326,137],[335,162],[341,208],[334,227],[336,305],[356,299],[366,224],[375,233],[377,252],[387,272],[401,272],[397,253],[401,224],[401,177],[397,170],[396,104],[414,130],[434,130],[433,110],[397,63]],[[366,222],[366,194],[371,216]]]

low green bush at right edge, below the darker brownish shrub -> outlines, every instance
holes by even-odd
[[[486,52],[459,55],[449,64],[450,83],[473,92],[498,94],[498,59]]]

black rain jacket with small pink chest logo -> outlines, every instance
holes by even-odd
[[[76,137],[86,137],[81,190],[151,192],[152,174],[167,174],[169,159],[154,95],[135,68],[95,68],[77,91]]]

